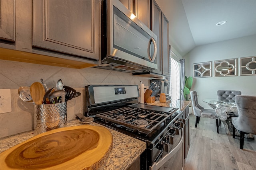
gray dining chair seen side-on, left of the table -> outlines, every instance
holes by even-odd
[[[217,133],[219,133],[219,125],[218,125],[219,117],[218,117],[218,115],[216,115],[215,110],[214,109],[204,109],[204,107],[200,106],[198,104],[198,98],[197,98],[196,91],[191,91],[190,96],[191,96],[191,102],[192,102],[194,115],[196,116],[195,127],[197,127],[197,124],[200,121],[200,117],[212,118],[212,119],[216,119]]]

